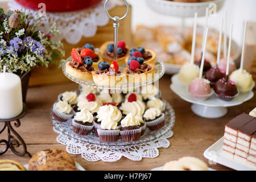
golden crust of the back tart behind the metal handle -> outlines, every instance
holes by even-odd
[[[108,62],[109,64],[112,64],[112,61],[113,61],[114,57],[106,55],[106,49],[108,47],[108,44],[110,44],[110,43],[113,43],[113,42],[112,41],[107,41],[107,42],[105,42],[104,44],[101,45],[99,55],[100,55],[100,60],[104,60],[104,61]],[[118,55],[117,55],[117,63],[119,65],[125,63],[126,57],[129,57],[129,48],[127,46],[126,46],[126,53],[124,53],[122,55],[122,57],[118,57]]]

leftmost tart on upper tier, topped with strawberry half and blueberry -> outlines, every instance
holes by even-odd
[[[92,80],[92,71],[94,71],[92,58],[85,56],[84,59],[82,59],[75,48],[71,51],[71,57],[73,60],[67,62],[65,65],[67,73],[82,80]]]

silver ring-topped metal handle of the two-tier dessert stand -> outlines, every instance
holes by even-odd
[[[118,27],[119,27],[119,20],[122,20],[123,18],[125,18],[125,16],[127,16],[127,14],[129,13],[129,5],[128,3],[123,0],[123,2],[125,3],[127,10],[126,10],[126,14],[123,15],[121,18],[119,18],[118,16],[110,16],[108,11],[106,10],[106,4],[108,3],[109,0],[106,0],[104,3],[104,11],[105,14],[109,17],[109,19],[113,20],[113,27],[114,27],[114,60],[117,61],[117,41],[118,41]]]

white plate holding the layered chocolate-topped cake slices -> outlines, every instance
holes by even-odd
[[[212,160],[218,164],[223,166],[238,170],[238,171],[253,171],[256,168],[246,166],[244,163],[238,162],[237,160],[228,158],[225,155],[222,155],[222,144],[223,144],[223,137],[215,142],[212,146],[207,148],[204,151],[205,158]]]

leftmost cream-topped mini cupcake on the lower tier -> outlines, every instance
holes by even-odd
[[[60,122],[65,122],[73,117],[72,107],[67,101],[59,101],[53,104],[52,116]]]

